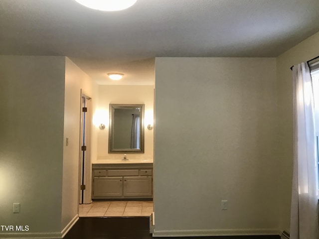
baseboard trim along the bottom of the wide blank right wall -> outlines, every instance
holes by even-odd
[[[153,237],[214,237],[214,236],[280,236],[277,229],[213,229],[213,230],[167,230],[157,231]]]

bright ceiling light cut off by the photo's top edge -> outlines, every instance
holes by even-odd
[[[119,11],[134,5],[137,0],[76,0],[78,3],[96,10]]]

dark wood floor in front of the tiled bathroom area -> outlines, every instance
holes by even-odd
[[[150,234],[149,224],[149,217],[80,218],[64,239],[151,239],[152,234]],[[280,236],[179,237],[167,239],[280,239]]]

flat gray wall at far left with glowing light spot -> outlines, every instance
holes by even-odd
[[[61,231],[64,74],[65,57],[0,56],[1,225]]]

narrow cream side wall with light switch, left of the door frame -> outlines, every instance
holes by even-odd
[[[92,98],[93,112],[97,102],[97,87],[97,84],[94,83],[86,73],[70,59],[66,58],[61,230],[63,230],[78,213],[81,89],[87,96]],[[95,157],[97,130],[92,129],[92,139],[94,139],[91,143],[93,146],[92,156]],[[66,146],[66,137],[68,137],[68,146]],[[90,186],[88,186],[88,191],[87,193],[91,194]]]

